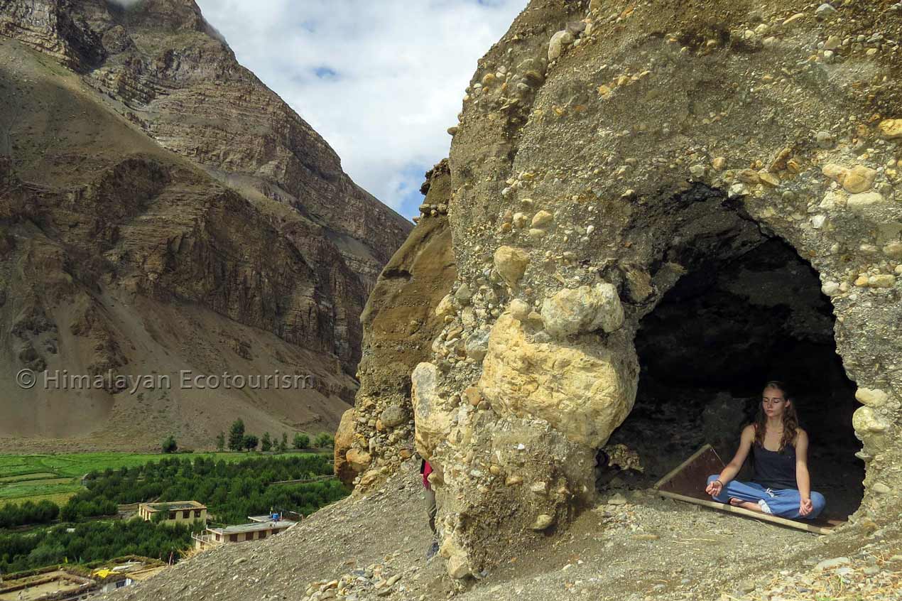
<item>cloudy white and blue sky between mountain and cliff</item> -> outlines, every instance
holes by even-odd
[[[359,185],[416,214],[476,61],[527,0],[197,0]]]

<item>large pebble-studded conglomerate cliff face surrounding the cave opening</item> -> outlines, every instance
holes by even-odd
[[[437,469],[452,577],[566,527],[643,370],[667,363],[637,356],[643,319],[677,282],[775,238],[802,267],[771,278],[752,265],[737,277],[757,283],[721,298],[783,315],[774,336],[820,339],[835,319],[840,377],[857,386],[845,427],[866,464],[852,520],[889,519],[902,490],[900,40],[890,2],[534,0],[483,57],[450,130],[458,275],[402,407]],[[793,276],[806,265],[813,297]],[[707,339],[703,354],[734,344]],[[358,397],[356,420],[381,410]]]

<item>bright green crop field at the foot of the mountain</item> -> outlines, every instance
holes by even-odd
[[[285,453],[284,455],[290,455]],[[53,455],[0,455],[0,505],[49,499],[65,504],[71,495],[82,489],[81,476],[107,467],[143,466],[161,458],[213,457],[226,461],[240,461],[267,455],[251,453],[59,453]]]

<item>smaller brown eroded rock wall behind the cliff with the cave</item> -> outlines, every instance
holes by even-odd
[[[349,485],[362,482],[365,488],[413,454],[410,373],[431,356],[449,319],[446,294],[457,272],[446,216],[447,161],[426,177],[417,227],[385,265],[361,317],[360,389],[336,434],[336,474]],[[449,348],[456,352],[464,345],[457,338]]]

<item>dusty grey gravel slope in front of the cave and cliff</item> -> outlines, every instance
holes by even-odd
[[[622,496],[627,504],[600,499],[567,532],[501,550],[497,568],[458,589],[443,559],[425,557],[422,488],[408,462],[372,494],[327,507],[277,538],[207,551],[108,598],[870,600],[902,593],[897,527],[853,524],[818,536],[645,492]],[[824,560],[831,561],[819,566]],[[340,583],[318,593],[334,580]],[[870,588],[859,597],[858,586]]]

